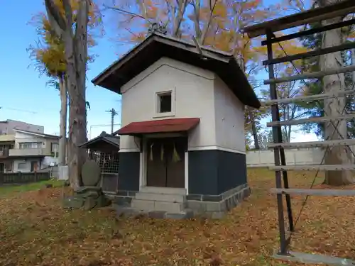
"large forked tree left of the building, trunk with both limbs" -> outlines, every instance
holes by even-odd
[[[79,187],[85,150],[79,148],[87,140],[87,101],[85,81],[87,70],[88,24],[90,0],[45,0],[52,34],[64,45],[65,72],[69,94],[69,177],[73,188]],[[73,9],[72,4],[77,5]]]

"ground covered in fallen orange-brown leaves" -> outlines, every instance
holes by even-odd
[[[315,173],[289,175],[290,187],[308,188]],[[249,199],[219,221],[116,219],[110,209],[63,210],[60,188],[0,188],[0,265],[297,265],[271,258],[278,248],[273,173],[249,170],[249,184]],[[302,201],[293,197],[294,216]],[[351,197],[310,197],[292,249],[355,259],[354,204]]]

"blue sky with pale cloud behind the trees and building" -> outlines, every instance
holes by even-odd
[[[268,0],[271,2],[272,0]],[[58,91],[47,84],[48,77],[40,76],[26,49],[38,40],[35,28],[29,25],[31,18],[45,11],[42,0],[5,1],[0,9],[0,121],[13,119],[44,126],[45,133],[59,135],[60,98]],[[16,14],[16,16],[13,16]],[[15,19],[14,19],[15,18]],[[107,19],[107,18],[106,18]],[[105,20],[105,18],[104,18]],[[5,21],[10,21],[5,23]],[[104,21],[105,22],[105,21]],[[110,28],[111,26],[111,28]],[[102,131],[110,131],[109,109],[116,109],[114,130],[120,128],[121,96],[102,87],[95,87],[91,80],[112,62],[119,59],[131,48],[119,45],[112,40],[116,31],[114,25],[105,23],[106,35],[97,40],[98,44],[90,52],[98,55],[89,64],[87,72],[87,101],[90,110],[87,114],[88,137],[94,138]],[[261,74],[257,79],[263,79]],[[266,121],[263,121],[266,123]],[[317,140],[314,134],[293,133],[293,141]]]

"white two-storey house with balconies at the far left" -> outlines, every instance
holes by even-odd
[[[4,156],[0,157],[2,172],[35,172],[58,164],[60,137],[17,128],[13,132],[14,135],[0,135],[4,150]]]

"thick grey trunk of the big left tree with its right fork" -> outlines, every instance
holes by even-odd
[[[70,82],[70,113],[69,113],[69,174],[73,188],[82,184],[82,165],[86,160],[86,153],[79,145],[87,141],[87,110],[85,96],[85,79],[87,66],[87,22],[89,3],[80,1],[77,14],[77,28],[75,35],[66,35],[65,52],[67,58],[67,78]]]

